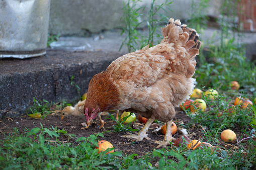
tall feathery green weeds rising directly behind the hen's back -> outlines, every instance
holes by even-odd
[[[124,41],[122,42],[119,51],[122,49],[124,45],[127,46],[128,52],[135,51],[137,49],[141,49],[146,45],[152,47],[155,43],[159,43],[160,41],[157,40],[157,37],[161,37],[162,35],[156,33],[157,28],[161,23],[166,23],[168,17],[162,14],[163,11],[167,13],[170,11],[169,5],[172,2],[168,2],[167,0],[160,4],[156,5],[155,0],[151,1],[149,11],[146,15],[142,12],[145,10],[146,6],[138,7],[137,3],[140,0],[128,0],[127,3],[123,3],[123,10],[124,14],[121,18],[124,21],[125,27],[123,28],[122,34],[126,34]],[[142,20],[144,18],[145,20]],[[143,35],[139,34],[138,27],[143,26],[146,24],[148,27],[148,36],[144,37]]]

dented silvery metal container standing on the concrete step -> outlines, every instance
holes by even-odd
[[[46,53],[50,0],[0,0],[0,59]]]

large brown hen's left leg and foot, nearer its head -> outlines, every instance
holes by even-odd
[[[155,120],[155,116],[152,115],[147,122],[145,123],[145,125],[143,126],[143,128],[138,132],[138,134],[134,134],[134,135],[124,135],[121,137],[127,137],[127,138],[135,138],[136,140],[142,140],[144,138],[146,138],[147,140],[151,140],[149,137],[147,137],[147,129],[149,128],[149,126],[152,124],[152,122]]]

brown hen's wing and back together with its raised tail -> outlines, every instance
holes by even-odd
[[[194,58],[200,48],[198,34],[174,19],[169,20],[162,34],[164,38],[160,44],[126,54],[112,62],[106,71],[112,73],[114,80],[133,83],[137,87],[149,87],[170,74],[191,78],[195,72]]]

